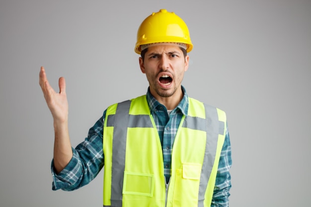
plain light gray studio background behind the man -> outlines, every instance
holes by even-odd
[[[39,82],[67,81],[73,146],[107,106],[145,94],[134,53],[161,8],[187,23],[189,96],[227,112],[231,207],[309,206],[310,0],[0,0],[0,206],[101,207],[101,172],[52,191],[53,121]]]

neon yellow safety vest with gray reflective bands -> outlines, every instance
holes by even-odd
[[[104,207],[210,207],[226,114],[189,98],[172,148],[171,179],[146,95],[106,110]]]

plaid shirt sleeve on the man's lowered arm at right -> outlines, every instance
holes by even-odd
[[[231,166],[231,143],[227,127],[224,145],[219,158],[211,207],[229,207],[229,191],[231,189],[231,175],[229,170]]]

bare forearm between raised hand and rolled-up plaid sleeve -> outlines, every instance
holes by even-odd
[[[68,121],[54,121],[54,169],[61,172],[73,157],[72,146],[69,138]]]

